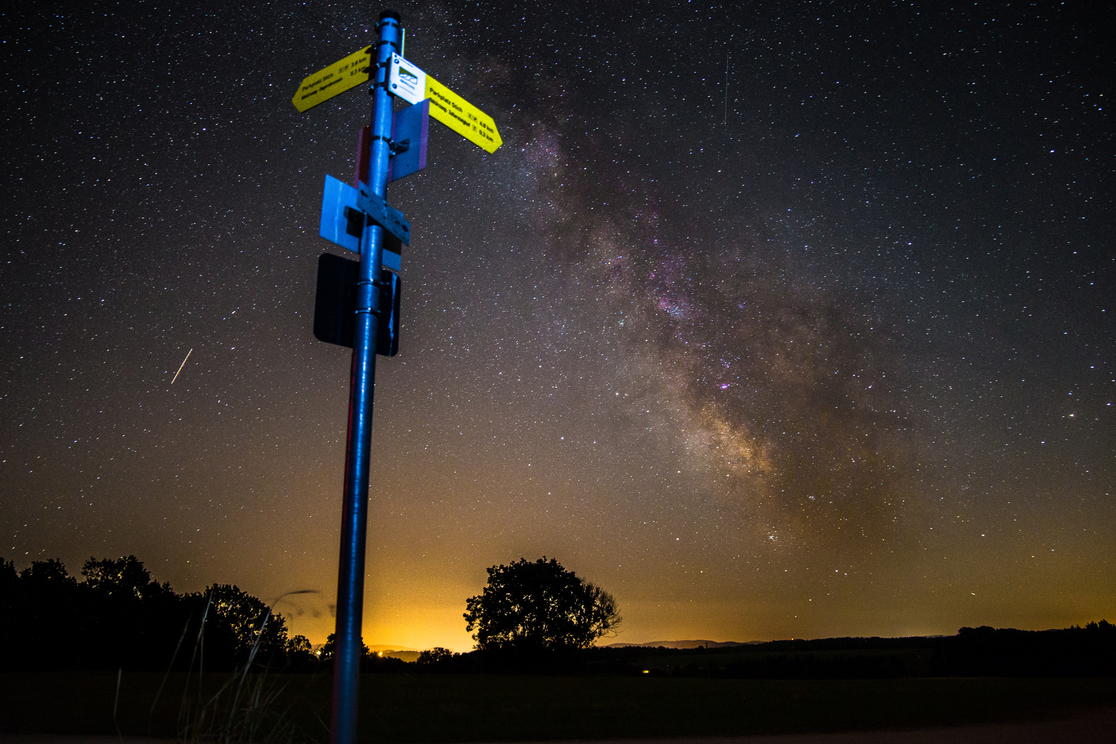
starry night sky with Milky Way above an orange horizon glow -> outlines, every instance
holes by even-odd
[[[431,123],[365,640],[557,558],[616,641],[1116,620],[1103,3],[400,2]],[[331,631],[349,351],[312,337],[349,2],[4,11],[0,555],[134,553]],[[183,358],[190,358],[172,385]]]

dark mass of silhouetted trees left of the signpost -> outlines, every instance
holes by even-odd
[[[135,555],[90,558],[84,581],[60,561],[26,570],[0,559],[0,669],[305,668],[316,665],[283,618],[228,584],[179,595]],[[253,653],[254,651],[254,653]]]

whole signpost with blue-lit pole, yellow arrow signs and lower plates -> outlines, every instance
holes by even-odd
[[[315,300],[315,336],[353,348],[331,744],[356,744],[376,355],[391,357],[398,351],[398,273],[402,244],[411,243],[411,223],[387,203],[387,183],[425,167],[431,116],[490,153],[502,144],[491,117],[403,57],[398,13],[382,12],[376,30],[377,44],[308,76],[291,99],[305,112],[362,83],[372,83],[372,122],[357,138],[355,182],[350,186],[326,176],[318,230],[326,240],[360,254],[359,262],[323,255]],[[412,106],[393,113],[393,96]]]

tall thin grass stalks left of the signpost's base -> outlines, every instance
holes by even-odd
[[[279,682],[267,666],[256,668],[256,656],[260,648],[260,639],[263,630],[271,619],[275,606],[283,597],[289,595],[305,595],[312,590],[290,591],[277,599],[268,608],[268,612],[256,630],[256,641],[248,655],[248,660],[242,669],[237,669],[234,674],[227,677],[215,690],[206,689],[203,684],[204,660],[205,660],[205,620],[212,606],[212,590],[202,613],[201,624],[198,628],[198,638],[194,641],[193,655],[186,670],[186,679],[182,690],[182,703],[179,707],[177,736],[183,744],[292,744],[292,743],[315,743],[318,740],[308,732],[304,732],[296,725],[294,716],[287,705],[289,697],[285,699],[283,692],[287,683]],[[184,638],[189,629],[189,624],[183,628]],[[174,657],[171,659],[171,667],[177,657],[179,647],[175,647]],[[194,673],[194,661],[198,661],[196,675]],[[170,675],[171,668],[163,677],[163,684],[155,695],[152,704],[152,712],[158,703],[158,695],[162,694]],[[212,676],[212,675],[211,675]],[[222,675],[223,676],[223,675]],[[194,682],[196,677],[196,682]],[[115,712],[114,712],[115,714]],[[328,733],[328,728],[323,724],[323,731]]]

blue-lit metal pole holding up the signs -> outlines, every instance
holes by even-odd
[[[385,10],[377,25],[379,44],[369,79],[373,81],[372,153],[368,185],[383,196],[387,187],[392,99],[387,67],[400,51],[400,15]],[[365,218],[360,239],[360,271],[356,289],[356,334],[349,381],[348,448],[345,453],[345,497],[341,509],[341,554],[337,572],[337,630],[334,648],[331,744],[356,744],[356,714],[364,640],[364,549],[368,528],[368,458],[372,402],[376,385],[376,330],[379,320],[381,264],[384,229]]]

